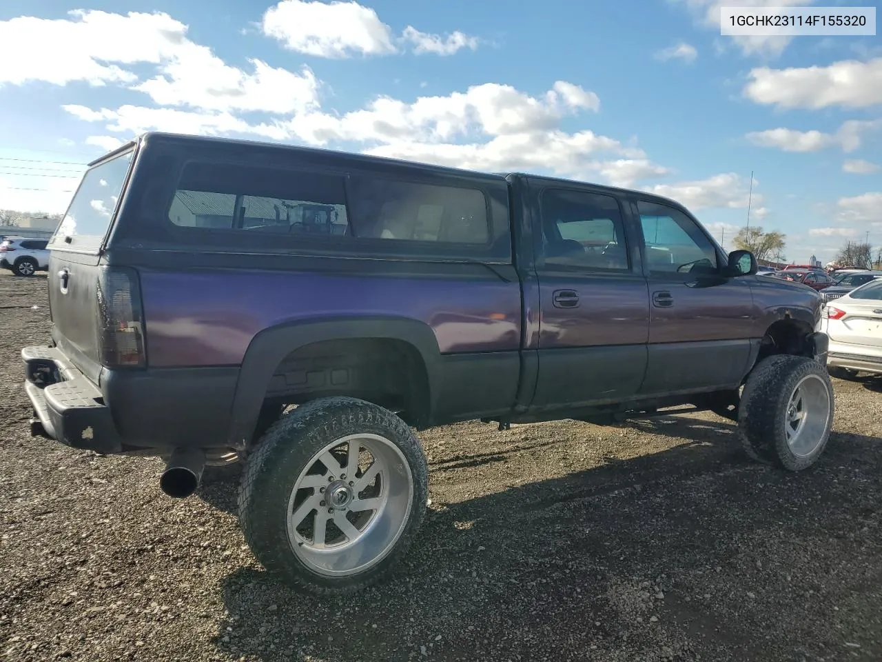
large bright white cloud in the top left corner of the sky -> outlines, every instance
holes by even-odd
[[[217,111],[292,113],[318,104],[318,81],[309,69],[295,73],[251,60],[251,71],[244,71],[186,33],[187,26],[159,12],[71,11],[71,19],[0,21],[0,84],[111,83],[144,92],[161,105]],[[34,43],[52,48],[34,49]],[[123,68],[131,64],[153,64],[158,75],[138,83]]]

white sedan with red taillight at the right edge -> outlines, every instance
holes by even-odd
[[[882,374],[882,279],[867,282],[827,304],[817,330],[830,338],[830,374]]]

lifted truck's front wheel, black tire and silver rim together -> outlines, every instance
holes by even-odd
[[[754,367],[738,407],[747,455],[783,469],[808,469],[824,452],[833,426],[833,384],[809,357],[775,355]]]

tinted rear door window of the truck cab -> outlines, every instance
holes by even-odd
[[[609,195],[564,189],[542,192],[545,264],[587,271],[627,271],[622,213]]]

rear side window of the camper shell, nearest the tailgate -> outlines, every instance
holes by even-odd
[[[168,219],[207,231],[286,236],[349,231],[342,177],[227,164],[188,163]]]

